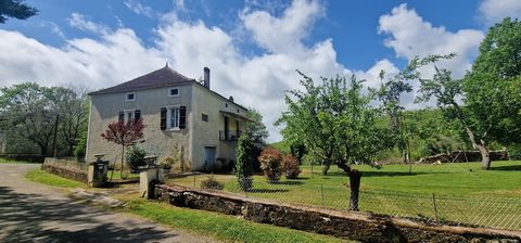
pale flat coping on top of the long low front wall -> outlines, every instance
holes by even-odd
[[[318,208],[313,206],[295,205],[291,203],[282,203],[282,202],[266,200],[266,199],[244,197],[244,196],[237,195],[229,192],[207,190],[207,189],[193,189],[193,188],[187,188],[179,184],[161,184],[157,187],[162,189],[166,189],[169,192],[199,193],[203,195],[218,196],[218,197],[224,197],[230,201],[238,201],[243,203],[258,203],[258,204],[265,204],[265,205],[271,205],[271,206],[287,207],[290,209],[317,213],[325,217],[335,217],[335,218],[342,218],[347,220],[363,220],[371,223],[392,222],[395,226],[401,226],[406,228],[417,228],[417,229],[436,231],[436,232],[450,232],[450,233],[457,233],[457,234],[474,234],[474,235],[487,235],[487,236],[498,236],[498,238],[511,236],[511,238],[517,238],[521,240],[521,231],[488,229],[488,228],[471,228],[471,227],[434,225],[434,223],[430,225],[430,223],[416,221],[411,219],[394,218],[389,216],[385,217],[382,215],[374,215],[371,213],[341,212],[341,210]]]

